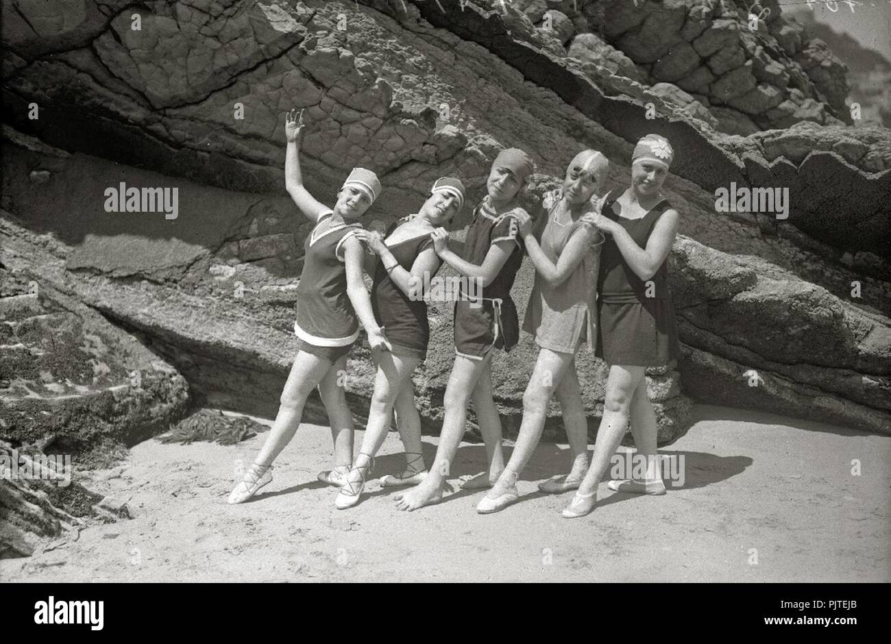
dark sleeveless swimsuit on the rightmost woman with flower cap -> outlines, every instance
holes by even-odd
[[[658,218],[671,208],[667,200],[662,200],[640,219],[627,219],[613,212],[615,201],[610,194],[604,200],[601,214],[625,228],[642,249],[646,248]],[[680,344],[668,289],[667,264],[666,258],[656,274],[643,281],[634,274],[615,240],[608,235],[597,281],[601,323],[596,355],[606,363],[650,367],[677,359]]]

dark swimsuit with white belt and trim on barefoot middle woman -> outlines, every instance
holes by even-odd
[[[473,221],[464,241],[463,259],[482,265],[492,245],[509,240],[515,244],[510,257],[491,284],[477,293],[481,299],[462,297],[454,303],[455,353],[472,360],[482,360],[495,348],[510,351],[519,341],[517,306],[511,299],[511,286],[523,262],[523,240],[519,237],[517,216],[525,212],[514,208],[496,215],[484,199],[473,211]],[[470,294],[473,295],[473,294]]]

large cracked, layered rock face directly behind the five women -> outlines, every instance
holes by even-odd
[[[477,200],[502,146],[538,163],[529,208],[586,146],[609,157],[609,187],[619,187],[636,139],[658,132],[676,151],[666,192],[682,213],[671,262],[684,344],[677,368],[649,373],[660,440],[683,431],[690,396],[891,431],[888,131],[841,124],[838,69],[797,39],[779,7],[749,33],[719,8],[693,20],[679,0],[571,6],[4,0],[0,261],[53,301],[89,306],[140,338],[170,365],[148,379],[168,387],[167,400],[184,401],[184,378],[211,404],[270,415],[293,354],[310,228],[282,189],[286,110],[307,110],[303,167],[323,201],[350,167],[378,172],[385,190],[370,225],[417,208],[440,175],[461,176]],[[599,33],[568,39],[568,23],[549,11]],[[829,75],[808,76],[817,60]],[[708,116],[675,104],[687,96]],[[819,112],[805,119],[818,123],[795,123],[800,110]],[[737,135],[709,125],[733,118]],[[760,130],[778,123],[788,129]],[[178,216],[107,212],[103,194],[122,182],[176,187]],[[788,218],[716,212],[715,191],[732,183],[788,188]],[[531,278],[526,263],[520,314]],[[450,307],[431,315],[416,385],[437,431]],[[524,338],[495,361],[508,433],[533,355]],[[595,428],[604,367],[587,353],[578,365]],[[371,376],[356,348],[347,391],[359,415]],[[165,420],[176,415],[170,404]],[[307,414],[322,420],[318,404]],[[556,405],[552,416],[559,428]]]

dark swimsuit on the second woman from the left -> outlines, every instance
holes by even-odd
[[[384,239],[404,222],[405,219],[402,219],[392,224]],[[429,248],[432,243],[429,234],[425,233],[398,241],[395,244],[388,244],[387,248],[393,257],[396,257],[399,265],[411,272],[414,260],[418,258],[422,250]],[[402,289],[390,279],[380,258],[374,267],[372,308],[375,319],[383,327],[384,335],[393,346],[394,354],[412,355],[421,358],[421,360],[427,357],[427,346],[430,339],[427,303],[422,298],[411,299],[405,295]]]

